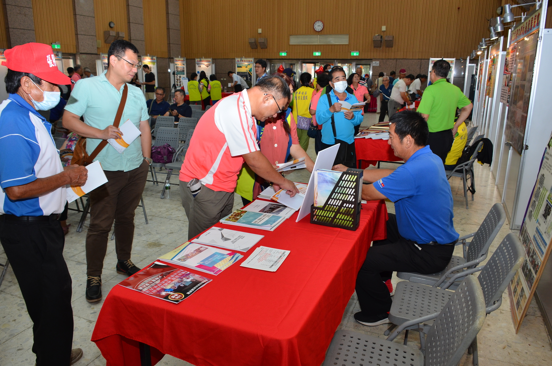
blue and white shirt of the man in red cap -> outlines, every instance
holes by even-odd
[[[63,171],[52,125],[17,94],[0,104],[0,213],[43,216],[61,213],[66,188],[39,197],[12,201],[4,189],[33,182]]]

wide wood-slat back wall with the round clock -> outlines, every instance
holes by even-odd
[[[181,0],[182,56],[278,59],[429,59],[466,57],[482,37],[501,0],[330,0],[273,2]],[[291,34],[349,34],[348,45],[290,45]],[[381,26],[386,32],[381,32]],[[257,29],[262,33],[258,34]],[[375,34],[394,35],[394,47],[374,48]],[[248,38],[267,38],[267,49],[251,49]],[[350,56],[351,51],[358,56]],[[320,56],[312,56],[321,51]]]

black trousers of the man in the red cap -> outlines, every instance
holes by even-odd
[[[2,215],[0,242],[33,321],[36,364],[68,365],[73,343],[72,289],[60,222],[55,218],[10,221]]]

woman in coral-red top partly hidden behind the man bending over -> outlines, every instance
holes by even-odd
[[[281,76],[287,83],[291,94],[293,95],[293,81],[285,74],[276,74]],[[289,102],[288,102],[289,104]],[[301,148],[297,135],[297,124],[291,113],[291,108],[280,106],[281,112],[278,117],[270,117],[264,122],[257,122],[257,144],[261,148],[261,153],[267,157],[270,164],[277,168],[278,164],[286,163],[289,158],[295,160],[304,159],[304,164],[309,172],[314,168],[314,162]],[[268,187],[268,182],[244,165],[238,176],[236,193],[242,197],[243,205],[253,201],[259,193]]]

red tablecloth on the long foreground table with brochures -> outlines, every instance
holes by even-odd
[[[245,256],[180,304],[115,286],[92,341],[110,366],[140,365],[138,342],[197,366],[319,366],[354,291],[371,240],[386,237],[384,201],[369,202],[356,231],[296,223],[295,213],[257,244],[291,250],[275,272],[241,267]],[[152,258],[154,260],[155,258]]]

